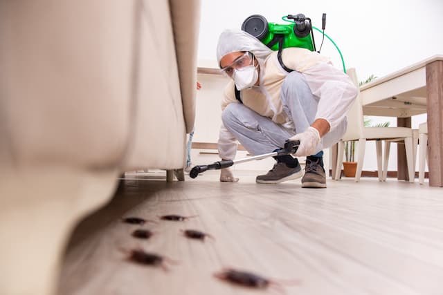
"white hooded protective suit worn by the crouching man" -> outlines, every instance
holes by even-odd
[[[280,88],[288,73],[280,66],[277,52],[270,50],[260,40],[242,30],[222,32],[217,45],[217,62],[219,63],[224,55],[237,51],[253,53],[260,66],[260,85],[242,91],[244,106],[263,117],[269,117],[288,130],[296,133],[305,131],[296,130],[291,117],[282,107]],[[318,118],[327,120],[331,127],[329,132],[334,131],[345,120],[345,115],[356,97],[356,88],[349,77],[334,68],[327,57],[305,48],[285,48],[282,59],[287,68],[304,75],[311,93],[318,98],[315,120]],[[226,86],[222,109],[228,104],[239,103],[235,98],[234,85],[234,82],[230,81]],[[218,148],[222,159],[235,158],[237,140],[224,125],[220,129]]]

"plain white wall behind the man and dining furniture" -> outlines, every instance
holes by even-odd
[[[204,60],[204,66],[217,67],[215,48],[220,32],[239,28],[250,15],[260,14],[270,22],[284,23],[283,15],[303,13],[321,28],[323,12],[327,14],[325,33],[340,48],[345,66],[356,68],[360,80],[372,74],[383,77],[431,55],[443,54],[443,0],[201,0],[199,59]],[[319,47],[320,33],[314,31],[314,36]],[[342,68],[336,48],[327,39],[321,53]],[[213,112],[219,112],[216,108],[221,97],[206,92],[212,83],[210,79],[205,81],[207,85],[197,97],[196,126],[200,131],[196,132],[196,141],[217,141],[221,121]],[[374,124],[385,121],[391,126],[396,124],[394,118],[372,117]],[[426,115],[413,117],[413,128],[421,122],[426,122]],[[201,126],[217,128],[206,133]],[[375,146],[368,144],[363,169],[377,169],[375,159]],[[389,170],[396,170],[396,163],[396,145],[392,144]]]

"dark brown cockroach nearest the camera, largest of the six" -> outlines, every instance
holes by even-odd
[[[274,287],[281,294],[284,294],[283,284],[298,284],[298,280],[271,280],[269,278],[264,278],[252,272],[244,272],[235,269],[223,269],[221,272],[214,274],[216,278],[225,280],[228,283],[233,283],[235,285],[240,285],[243,287],[250,287],[253,289],[266,289],[268,287]]]

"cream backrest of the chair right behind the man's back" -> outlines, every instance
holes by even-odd
[[[363,106],[361,105],[361,96],[359,89],[359,82],[355,68],[349,68],[346,70],[347,75],[350,77],[357,87],[359,94],[357,95],[350,110],[347,112],[347,129],[341,140],[358,140],[363,136]]]

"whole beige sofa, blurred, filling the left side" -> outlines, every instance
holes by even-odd
[[[179,169],[199,1],[0,1],[0,294],[51,294],[123,171]]]

